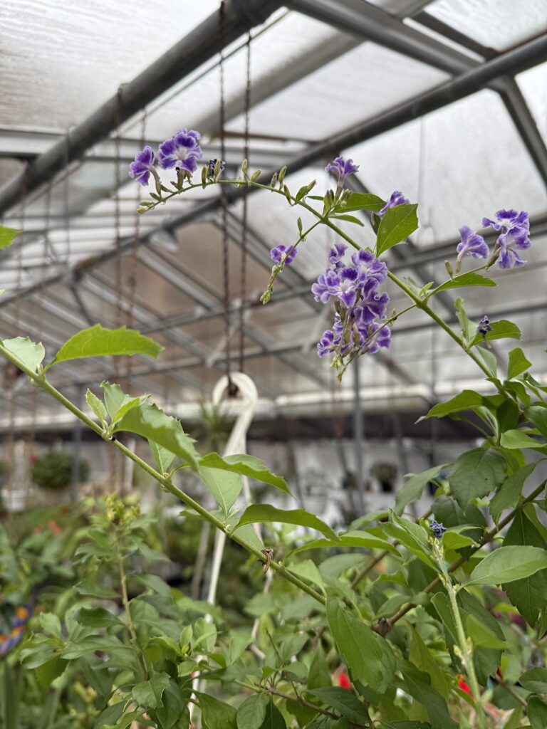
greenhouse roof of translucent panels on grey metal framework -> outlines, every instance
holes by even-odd
[[[188,415],[187,403],[225,372],[227,339],[238,366],[242,322],[244,368],[265,412],[352,399],[350,373],[338,385],[315,351],[332,311],[309,289],[325,269],[330,231],[300,246],[263,306],[270,249],[298,238],[298,214],[281,196],[253,190],[247,226],[247,188],[229,193],[225,219],[216,188],[136,213],[146,191],[128,164],[143,142],[157,148],[184,126],[200,131],[204,159],[220,157],[221,77],[227,174],[237,174],[248,144],[249,168],[265,180],[287,165],[291,190],[317,179],[323,194],[333,186],[325,165],[352,157],[354,191],[387,199],[403,190],[419,203],[419,230],[387,260],[420,286],[446,278],[459,227],[480,229],[500,208],[528,211],[527,265],[494,267],[503,285],[463,297],[471,319],[515,321],[527,356],[544,361],[547,0],[521,0],[518,12],[511,0],[228,0],[222,21],[218,0],[6,0],[0,17],[0,214],[24,230],[0,255],[0,336],[29,335],[53,356],[100,321],[165,347],[157,362],[137,357],[130,370],[112,359],[59,365],[52,380],[66,391],[129,374],[132,389]],[[341,226],[369,245],[363,221]],[[455,298],[443,292],[435,304],[446,321],[456,321]],[[500,367],[509,348],[494,343]],[[417,310],[395,323],[386,354],[360,359],[371,410],[425,408],[480,374]],[[24,379],[12,386],[20,424],[45,425],[49,402]]]

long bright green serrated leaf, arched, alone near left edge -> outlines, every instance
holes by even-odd
[[[53,364],[81,357],[110,356],[113,354],[146,354],[156,358],[163,347],[149,337],[144,337],[133,329],[103,329],[95,324],[78,332],[66,341],[55,354],[53,362],[44,367],[48,370]]]

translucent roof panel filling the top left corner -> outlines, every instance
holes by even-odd
[[[217,8],[218,0],[4,0],[2,122],[77,125]]]

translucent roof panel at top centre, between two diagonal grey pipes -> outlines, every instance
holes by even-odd
[[[258,135],[325,139],[447,78],[443,71],[365,43],[252,109],[249,128]],[[228,125],[240,133],[243,128],[242,117]]]

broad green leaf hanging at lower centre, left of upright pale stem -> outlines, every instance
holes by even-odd
[[[386,691],[395,677],[395,656],[389,643],[336,599],[327,601],[327,620],[354,681],[380,693]]]

